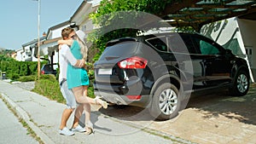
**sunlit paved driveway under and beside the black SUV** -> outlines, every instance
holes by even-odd
[[[154,121],[148,110],[139,107],[109,107],[101,112],[123,123],[201,144],[256,143],[256,84],[247,95],[192,95],[177,118]]]

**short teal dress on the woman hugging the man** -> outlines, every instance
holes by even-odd
[[[81,52],[80,52],[80,46],[78,41],[76,40],[73,41],[73,44],[70,50],[73,56],[77,60],[80,60],[83,58],[83,55],[81,55]],[[73,89],[74,87],[79,87],[82,85],[89,85],[89,78],[86,70],[84,68],[74,67],[70,63],[68,63],[68,66],[67,66],[68,89]]]

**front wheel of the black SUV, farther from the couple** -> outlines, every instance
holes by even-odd
[[[250,86],[249,75],[244,70],[236,73],[232,87],[230,88],[230,95],[242,96],[247,95]]]

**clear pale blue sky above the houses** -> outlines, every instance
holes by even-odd
[[[84,0],[41,0],[40,37],[73,16]],[[0,48],[17,50],[38,38],[38,1],[0,1]]]

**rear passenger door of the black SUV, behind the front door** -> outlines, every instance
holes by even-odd
[[[199,89],[204,84],[205,74],[202,60],[188,33],[172,33],[168,37],[169,49],[177,60],[178,69],[183,72],[186,80],[184,87]]]

